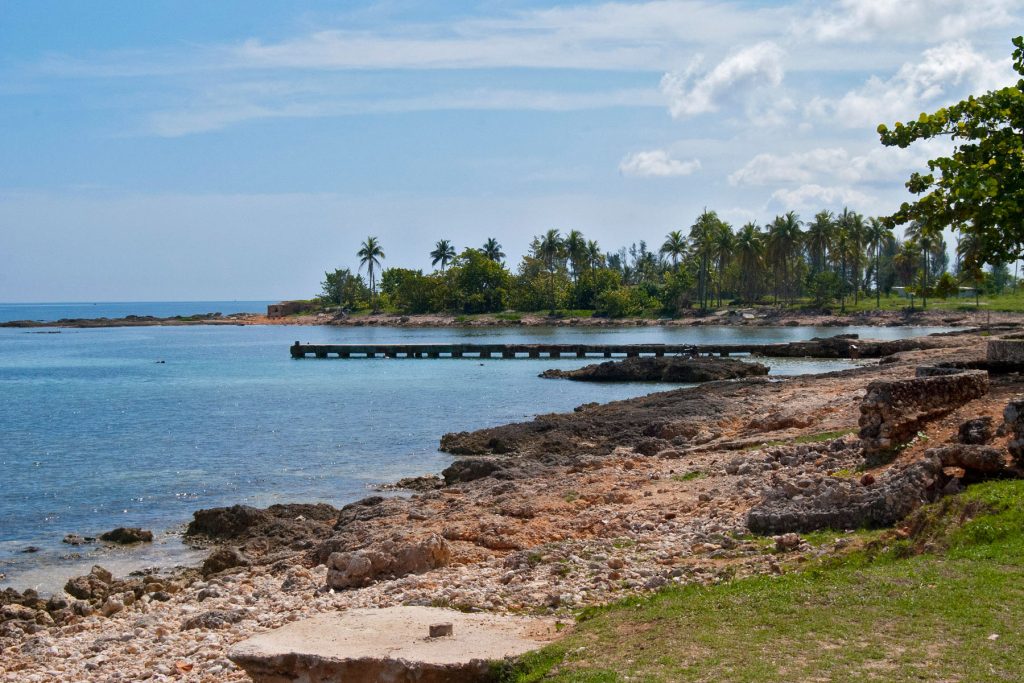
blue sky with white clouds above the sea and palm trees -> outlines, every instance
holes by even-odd
[[[0,0],[0,301],[282,299],[441,239],[910,199],[1020,0]]]

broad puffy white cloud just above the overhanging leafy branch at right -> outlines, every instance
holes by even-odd
[[[839,98],[816,97],[807,106],[812,118],[851,128],[907,120],[926,109],[952,103],[968,93],[1015,81],[1009,60],[992,60],[957,40],[927,49],[921,61],[906,62],[889,79],[872,76]]]

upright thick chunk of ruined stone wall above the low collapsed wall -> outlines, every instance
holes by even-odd
[[[920,369],[919,377],[878,380],[860,403],[860,438],[868,454],[909,441],[922,425],[988,392],[988,373]]]

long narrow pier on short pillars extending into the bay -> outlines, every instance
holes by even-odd
[[[775,344],[300,344],[293,358],[589,358],[761,353]]]

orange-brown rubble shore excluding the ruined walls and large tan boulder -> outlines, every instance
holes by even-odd
[[[749,540],[748,513],[779,473],[820,478],[853,466],[857,407],[869,381],[912,376],[923,362],[984,356],[985,339],[975,333],[933,341],[855,370],[712,382],[444,435],[442,449],[467,457],[445,470],[443,482],[403,481],[419,490],[326,506],[323,519],[296,506],[280,517],[254,516],[259,522],[250,526],[209,526],[210,545],[237,551],[243,562],[206,574],[185,568],[115,581],[98,611],[75,613],[79,600],[60,624],[39,617],[34,628],[0,631],[0,675],[92,680],[119,671],[129,679],[195,673],[241,681],[244,673],[225,656],[230,645],[315,613],[435,604],[570,615],[668,584],[787,571],[800,553],[780,557]],[[985,410],[1014,390],[999,386]],[[955,426],[943,421],[929,436],[947,438]],[[882,478],[923,449],[867,473]],[[433,537],[451,548],[443,566],[325,589],[332,551]],[[101,615],[112,600],[120,608]]]

